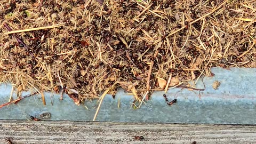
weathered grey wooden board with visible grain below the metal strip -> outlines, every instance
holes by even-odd
[[[7,143],[256,143],[251,125],[0,121]],[[143,135],[142,141],[134,135]]]

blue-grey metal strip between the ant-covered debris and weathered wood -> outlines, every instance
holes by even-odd
[[[206,89],[189,91],[175,88],[167,92],[170,100],[177,98],[173,106],[167,106],[164,92],[154,92],[151,99],[133,109],[132,95],[119,90],[116,98],[107,95],[102,102],[97,121],[111,122],[163,122],[163,123],[215,123],[215,124],[256,124],[256,68],[213,68],[213,77],[203,79]],[[212,88],[214,81],[221,84],[217,90]],[[203,88],[198,81],[197,88]],[[0,105],[9,100],[11,86],[0,85]],[[26,95],[29,92],[23,92]],[[15,95],[15,93],[13,94]],[[46,106],[40,95],[21,100],[18,105],[9,105],[0,109],[0,119],[29,119],[29,115],[39,116],[42,111],[51,113],[50,120],[92,121],[98,102],[86,101],[85,106],[76,106],[73,100],[64,95],[60,101],[58,94],[45,93]],[[120,108],[118,108],[120,100]]]

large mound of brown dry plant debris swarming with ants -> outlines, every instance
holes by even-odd
[[[3,0],[0,79],[22,90],[68,87],[77,105],[117,87],[141,101],[145,91],[211,76],[213,66],[256,67],[255,7],[236,0]]]

